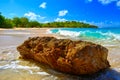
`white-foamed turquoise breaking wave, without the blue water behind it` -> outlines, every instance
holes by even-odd
[[[58,29],[56,32],[49,31],[49,33],[55,33],[62,36],[69,36],[69,37],[79,37],[83,39],[96,39],[96,40],[115,40],[120,41],[120,34],[102,31],[72,31],[72,30],[63,30]]]

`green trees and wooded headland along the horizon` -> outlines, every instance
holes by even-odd
[[[97,28],[95,25],[86,24],[77,21],[65,21],[65,22],[50,22],[39,23],[38,21],[30,21],[26,17],[14,17],[13,19],[5,18],[0,13],[0,28]]]

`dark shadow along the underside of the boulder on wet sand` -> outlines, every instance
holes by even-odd
[[[31,63],[36,63],[36,65],[39,66],[43,71],[49,73],[51,76],[57,77],[57,80],[120,80],[120,72],[112,68],[102,70],[92,75],[76,76],[55,71],[50,67],[35,62],[33,60],[28,61],[30,61]]]

